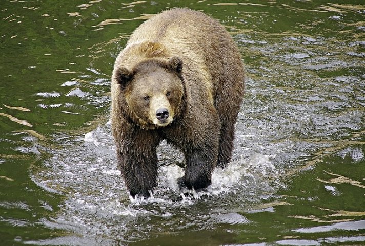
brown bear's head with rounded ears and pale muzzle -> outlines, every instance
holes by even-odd
[[[151,58],[133,68],[121,66],[115,73],[127,114],[142,128],[169,125],[180,114],[185,86],[179,57]]]

